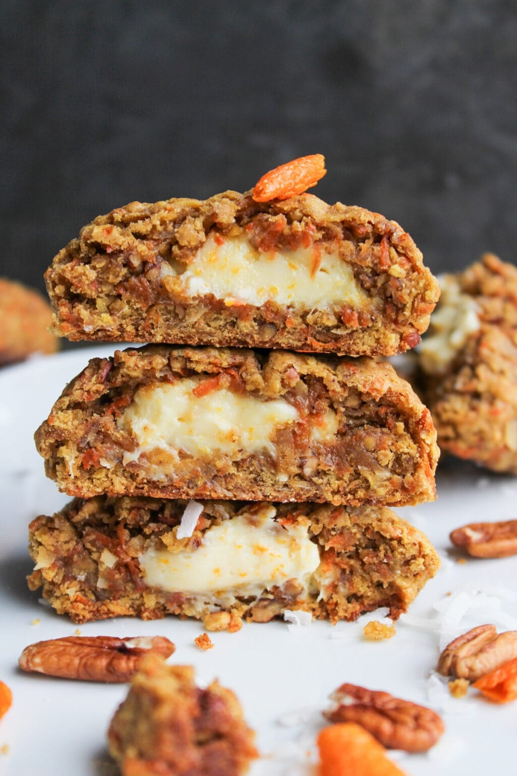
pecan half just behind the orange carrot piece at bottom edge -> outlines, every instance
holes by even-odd
[[[330,722],[356,722],[388,749],[426,752],[443,733],[436,712],[388,692],[342,684],[330,696],[333,707],[323,712]]]

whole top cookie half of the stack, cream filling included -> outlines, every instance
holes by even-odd
[[[46,280],[71,340],[346,355],[413,348],[439,296],[398,223],[307,193],[130,203],[84,227]]]

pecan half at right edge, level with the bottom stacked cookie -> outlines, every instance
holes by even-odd
[[[517,520],[470,523],[450,534],[453,545],[474,558],[507,558],[517,555]]]

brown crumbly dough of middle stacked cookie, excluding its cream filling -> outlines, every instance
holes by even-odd
[[[295,431],[277,435],[276,459],[237,460],[214,451],[209,459],[167,463],[151,476],[116,418],[139,386],[189,374],[231,371],[243,390],[267,398],[303,391],[307,411],[338,414],[340,430],[325,444]],[[298,388],[297,388],[298,386]],[[305,399],[304,399],[305,400]],[[147,346],[93,359],[64,390],[36,431],[47,476],[77,497],[98,494],[333,504],[418,504],[436,497],[438,450],[429,411],[390,365],[370,359],[315,358],[215,348]]]

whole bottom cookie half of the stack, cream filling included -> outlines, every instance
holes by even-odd
[[[439,566],[426,536],[387,508],[77,499],[30,525],[29,587],[74,622],[194,617],[238,630],[286,610],[397,618]]]

